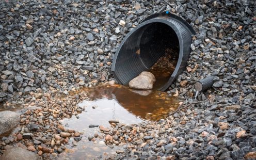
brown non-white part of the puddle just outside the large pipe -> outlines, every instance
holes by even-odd
[[[71,94],[82,91],[87,93],[89,101],[113,99],[133,115],[151,121],[166,118],[170,111],[177,108],[179,102],[177,99],[169,97],[166,92],[132,90],[121,85],[83,88]]]

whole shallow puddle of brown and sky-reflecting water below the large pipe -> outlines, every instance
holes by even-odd
[[[125,145],[106,146],[104,139],[100,138],[96,138],[94,142],[89,141],[88,136],[93,136],[95,133],[100,135],[99,127],[90,128],[89,125],[103,125],[110,128],[109,120],[118,120],[125,124],[158,121],[166,118],[179,103],[177,99],[169,97],[166,92],[132,90],[121,85],[83,88],[70,94],[81,92],[87,93],[87,99],[78,106],[85,108],[85,111],[70,119],[63,119],[62,125],[67,129],[83,132],[83,138],[75,144],[71,139],[66,146],[72,150],[71,153],[62,153],[59,159],[115,156],[116,150],[122,149]]]

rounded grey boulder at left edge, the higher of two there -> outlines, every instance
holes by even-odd
[[[9,110],[0,111],[0,135],[13,129],[19,122],[19,114]]]

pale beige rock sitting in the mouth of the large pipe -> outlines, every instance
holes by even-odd
[[[150,72],[141,72],[137,77],[129,82],[129,87],[133,89],[148,90],[153,88],[155,76]]]

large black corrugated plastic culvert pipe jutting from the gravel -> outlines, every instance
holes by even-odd
[[[168,48],[178,48],[177,65],[165,91],[185,69],[190,54],[194,29],[182,18],[168,11],[153,14],[126,35],[115,54],[111,71],[118,83],[126,85],[142,71],[147,71],[166,54]]]

